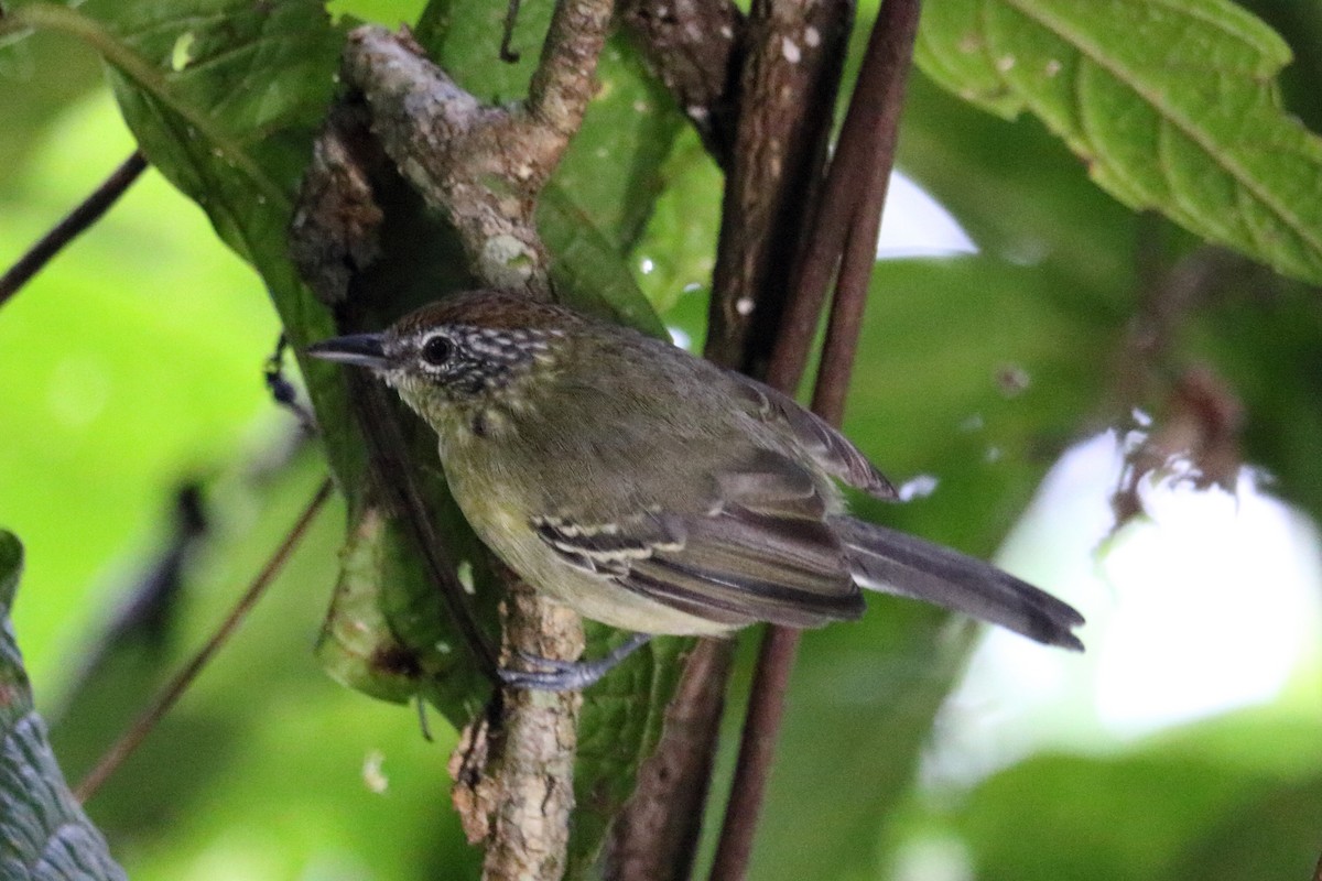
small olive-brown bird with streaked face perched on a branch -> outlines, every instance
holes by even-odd
[[[1067,604],[849,516],[837,481],[896,498],[858,448],[787,395],[668,342],[473,291],[307,353],[373,370],[431,425],[460,510],[520,577],[635,631],[595,662],[502,670],[508,684],[587,687],[653,634],[858,618],[859,586],[1083,649]]]

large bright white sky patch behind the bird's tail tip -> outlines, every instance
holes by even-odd
[[[988,627],[943,709],[924,777],[970,786],[1042,748],[1096,752],[1266,704],[1318,663],[1322,561],[1311,522],[1263,493],[1159,483],[1107,538],[1113,433],[1068,450],[1006,542],[1006,569],[1075,605],[1085,654]]]

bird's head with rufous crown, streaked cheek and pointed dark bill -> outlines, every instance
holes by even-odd
[[[583,321],[527,297],[472,291],[423,306],[381,333],[313,343],[307,354],[368,367],[435,425],[444,411],[514,404],[555,371]]]

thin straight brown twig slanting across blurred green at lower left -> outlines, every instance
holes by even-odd
[[[303,514],[300,514],[299,519],[295,520],[292,527],[290,527],[284,540],[280,542],[280,546],[266,561],[266,565],[262,567],[262,571],[253,580],[253,584],[249,585],[249,589],[245,590],[243,596],[234,604],[234,608],[230,609],[229,616],[226,616],[225,621],[222,621],[215,629],[212,638],[206,641],[206,645],[202,646],[196,655],[193,655],[193,659],[188,662],[184,670],[181,670],[175,679],[165,686],[156,701],[137,717],[137,721],[135,721],[134,725],[120,736],[114,746],[106,750],[106,753],[100,757],[100,761],[97,762],[97,766],[87,773],[77,787],[74,787],[74,796],[79,802],[86,802],[95,795],[102,783],[104,783],[110,775],[124,763],[124,759],[132,756],[134,750],[136,750],[139,745],[141,745],[143,740],[147,738],[147,734],[156,728],[156,724],[161,720],[161,717],[169,712],[175,703],[184,695],[184,691],[193,684],[193,680],[197,679],[197,675],[202,671],[202,667],[205,667],[221,646],[223,646],[226,641],[234,635],[234,631],[247,617],[247,613],[253,610],[253,606],[262,598],[262,594],[266,593],[267,586],[280,572],[280,568],[284,567],[290,555],[293,552],[293,548],[299,546],[299,542],[307,534],[312,519],[317,515],[321,506],[325,505],[325,501],[329,497],[330,481],[325,479],[321,482],[321,486],[317,487],[316,493],[312,494],[312,499],[303,509]]]

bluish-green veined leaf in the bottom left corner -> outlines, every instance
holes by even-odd
[[[106,839],[69,791],[32,707],[9,610],[22,546],[0,531],[0,874],[7,878],[126,878]]]

